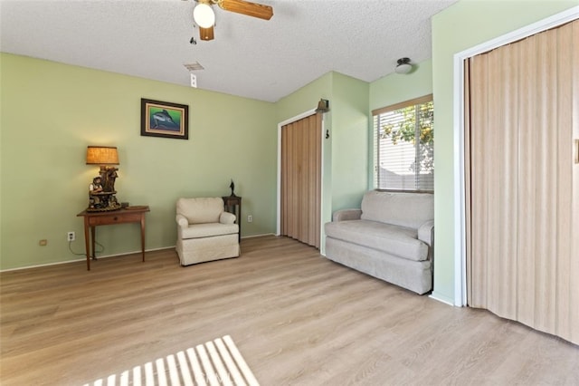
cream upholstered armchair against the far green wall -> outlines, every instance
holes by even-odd
[[[225,212],[223,198],[179,198],[176,222],[181,265],[240,255],[239,227],[235,215]]]

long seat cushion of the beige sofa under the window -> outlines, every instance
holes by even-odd
[[[418,240],[418,231],[368,220],[349,220],[326,224],[326,236],[367,246],[413,261],[428,258],[428,246]]]

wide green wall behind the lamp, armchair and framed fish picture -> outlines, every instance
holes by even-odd
[[[119,148],[119,201],[147,204],[147,249],[175,246],[179,197],[242,196],[242,235],[274,233],[273,103],[2,53],[0,269],[83,258],[81,217],[98,167],[88,145]],[[140,98],[189,105],[189,140],[140,136]],[[247,223],[252,214],[253,222]],[[98,227],[102,255],[137,251],[134,224]],[[47,239],[47,246],[39,240]]]

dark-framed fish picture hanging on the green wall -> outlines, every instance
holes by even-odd
[[[189,139],[189,106],[141,98],[141,135]]]

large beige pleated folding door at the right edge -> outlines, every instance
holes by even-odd
[[[579,21],[465,73],[468,304],[579,344]]]

